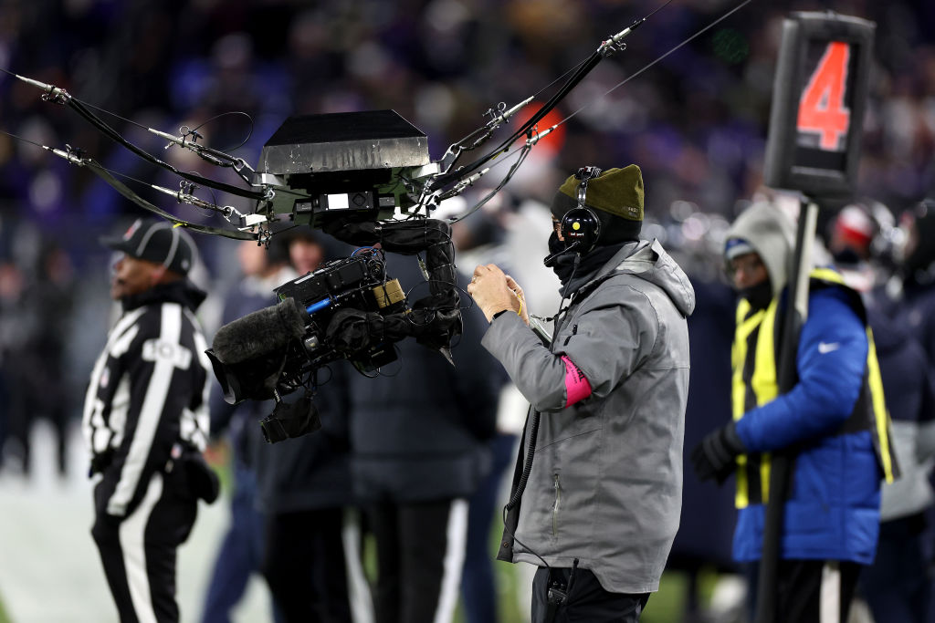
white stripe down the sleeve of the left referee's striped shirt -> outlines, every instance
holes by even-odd
[[[159,339],[169,344],[179,344],[181,334],[181,306],[177,303],[164,303],[160,313]],[[137,430],[127,452],[126,461],[120,474],[117,487],[108,500],[110,515],[123,515],[126,506],[133,499],[139,477],[150,455],[152,439],[156,435],[159,420],[163,415],[165,398],[172,384],[175,365],[171,360],[157,357],[153,362],[150,385],[146,388],[146,397],[139,410]]]

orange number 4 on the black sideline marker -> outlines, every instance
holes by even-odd
[[[847,135],[851,111],[844,106],[850,47],[841,41],[827,44],[798,103],[798,131],[821,135],[821,149],[836,150]]]

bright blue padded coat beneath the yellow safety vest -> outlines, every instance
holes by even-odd
[[[853,301],[843,288],[810,293],[808,319],[798,339],[798,383],[737,421],[747,449],[742,461],[746,477],[738,479],[738,561],[760,558],[766,516],[762,483],[769,480],[763,453],[791,447],[798,453],[785,502],[782,557],[873,560],[883,473],[872,432],[866,426],[842,431],[855,412],[868,366],[867,331]],[[762,333],[759,340],[774,337]],[[760,369],[760,360],[754,375],[770,376]],[[774,361],[763,361],[770,363],[775,369]]]

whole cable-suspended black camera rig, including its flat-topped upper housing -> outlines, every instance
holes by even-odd
[[[282,285],[280,304],[218,331],[208,355],[228,403],[275,400],[261,422],[275,442],[318,427],[315,372],[329,362],[373,373],[396,360],[394,343],[409,336],[451,361],[451,339],[461,333],[451,227],[405,211],[417,199],[412,180],[438,171],[424,134],[393,111],[290,118],[256,170],[275,189],[258,213],[288,214],[293,226],[362,248]],[[386,273],[384,250],[424,254],[428,296],[410,305]],[[281,400],[299,388],[303,400]]]

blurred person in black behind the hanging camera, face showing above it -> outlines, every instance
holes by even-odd
[[[308,228],[283,234],[282,242],[301,275],[324,260]],[[348,374],[340,361],[315,374],[321,430],[258,448],[258,502],[266,517],[262,570],[289,623],[373,620],[353,505]]]

